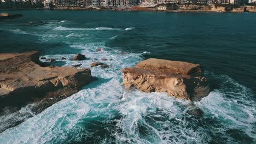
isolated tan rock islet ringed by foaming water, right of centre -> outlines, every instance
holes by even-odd
[[[121,69],[123,85],[143,92],[167,92],[176,98],[199,101],[210,93],[200,64],[150,58]]]

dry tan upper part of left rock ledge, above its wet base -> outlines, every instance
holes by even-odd
[[[40,67],[41,63],[37,51],[0,53],[0,108],[62,94],[68,97],[93,80],[89,68]]]

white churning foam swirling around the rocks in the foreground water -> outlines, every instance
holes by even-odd
[[[69,34],[69,37],[71,36]],[[103,51],[96,52],[98,47]],[[96,59],[107,58],[104,63],[108,64],[109,68],[90,68],[92,76],[98,77],[97,81],[17,127],[5,130],[0,134],[2,143],[82,141],[86,136],[98,136],[96,131],[101,127],[100,124],[95,126],[95,130],[90,131],[90,125],[94,123],[103,124],[104,130],[109,130],[109,134],[115,138],[115,143],[208,143],[213,140],[211,135],[215,133],[226,135],[225,130],[228,129],[241,129],[256,139],[253,133],[255,128],[253,124],[256,122],[255,102],[249,99],[253,97],[252,92],[228,76],[216,76],[216,79],[224,81],[223,85],[211,92],[208,97],[195,103],[205,112],[202,118],[195,119],[184,110],[189,101],[167,97],[166,93],[143,93],[138,90],[127,91],[123,88],[120,69],[132,67],[142,60],[141,56],[144,53],[148,52],[118,55],[119,50],[106,47],[103,42],[75,43],[67,49],[71,51],[79,49],[88,59],[69,60],[74,55],[44,57],[55,58],[57,61],[65,57],[67,59],[64,66],[82,64],[79,68],[90,67],[92,62],[101,62]],[[226,85],[231,85],[232,89],[227,89]],[[227,98],[226,95],[231,95],[231,98]],[[20,112],[31,111],[28,106]],[[7,117],[14,118],[11,115]],[[7,117],[0,117],[0,122]],[[110,122],[114,123],[113,127],[109,127]],[[110,143],[108,138],[97,139],[101,143]],[[230,143],[236,142],[232,137],[225,139]]]

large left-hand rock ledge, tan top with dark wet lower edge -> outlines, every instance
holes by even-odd
[[[0,133],[79,91],[89,68],[41,67],[39,52],[0,53]],[[20,111],[26,104],[30,112]],[[11,116],[11,117],[9,117]]]

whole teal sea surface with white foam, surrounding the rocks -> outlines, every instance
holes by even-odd
[[[24,16],[0,21],[0,52],[39,50],[80,68],[107,58],[109,68],[91,68],[97,81],[3,131],[0,143],[256,143],[255,13],[2,12]],[[26,25],[33,21],[47,24]],[[76,53],[88,58],[72,61]],[[166,93],[125,91],[120,69],[152,57],[202,65],[213,91],[195,103],[201,117]],[[8,118],[19,119],[0,122]]]

